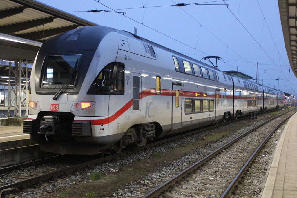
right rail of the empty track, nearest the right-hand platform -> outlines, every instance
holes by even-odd
[[[292,114],[293,115],[293,114]],[[280,122],[269,134],[268,136],[263,140],[263,142],[259,145],[259,147],[256,149],[256,151],[252,154],[252,156],[248,159],[248,161],[244,164],[244,166],[241,168],[241,170],[238,172],[238,174],[235,176],[235,178],[232,180],[232,182],[229,184],[227,189],[224,191],[222,196],[220,198],[227,198],[230,196],[230,194],[233,191],[233,188],[237,185],[238,181],[241,179],[243,174],[246,172],[246,170],[249,168],[249,165],[253,162],[254,158],[257,156],[257,154],[260,152],[262,147],[266,144],[268,139],[271,137],[271,135],[292,115],[289,115],[287,118],[285,118],[282,122]]]

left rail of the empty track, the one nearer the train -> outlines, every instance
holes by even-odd
[[[290,111],[287,111],[285,113],[288,113]],[[188,175],[191,175],[192,172],[194,172],[195,170],[197,170],[198,167],[202,166],[206,161],[208,161],[208,159],[213,158],[214,156],[216,156],[217,154],[219,154],[221,151],[225,150],[230,145],[232,145],[234,142],[236,142],[237,140],[239,140],[241,137],[244,137],[245,135],[247,135],[250,132],[254,131],[255,129],[259,128],[260,126],[262,126],[262,125],[270,122],[271,120],[274,120],[275,118],[278,118],[279,116],[284,115],[285,113],[282,113],[282,114],[280,114],[278,116],[275,116],[273,118],[270,118],[267,121],[265,121],[263,123],[260,123],[259,125],[253,127],[252,129],[249,129],[247,132],[245,132],[245,133],[241,134],[240,136],[236,137],[235,139],[229,141],[228,143],[226,143],[225,145],[221,146],[217,150],[211,152],[210,154],[208,154],[204,158],[202,158],[199,161],[195,162],[194,164],[192,164],[191,166],[189,166],[187,169],[181,171],[180,173],[178,173],[174,177],[172,177],[169,180],[165,181],[163,184],[161,184],[160,186],[158,186],[157,188],[155,188],[151,192],[147,193],[142,198],[153,198],[153,197],[159,196],[162,192],[164,192],[165,190],[169,189],[174,184],[178,183],[178,181],[182,180],[183,178],[187,177]]]

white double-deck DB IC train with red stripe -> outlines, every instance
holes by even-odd
[[[86,26],[45,41],[23,133],[42,151],[93,155],[277,109],[285,94],[127,31]]]

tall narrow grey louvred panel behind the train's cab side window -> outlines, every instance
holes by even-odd
[[[138,73],[131,73],[131,112],[140,112],[141,109],[141,75]]]

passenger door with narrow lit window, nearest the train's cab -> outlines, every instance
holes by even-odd
[[[181,128],[182,116],[182,84],[172,83],[172,125],[171,130]]]

